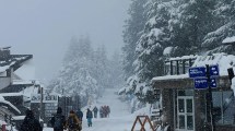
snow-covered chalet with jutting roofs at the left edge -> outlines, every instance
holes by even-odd
[[[10,47],[0,48],[0,108],[3,115],[17,116],[26,110],[20,92],[34,83],[25,82],[15,72],[32,58],[33,55],[11,55]]]

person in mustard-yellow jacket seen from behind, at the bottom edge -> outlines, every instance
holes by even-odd
[[[67,120],[67,127],[69,131],[81,131],[82,130],[82,124],[79,118],[77,117],[75,112],[71,110],[69,112],[69,118]]]

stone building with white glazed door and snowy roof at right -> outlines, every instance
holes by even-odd
[[[152,79],[153,88],[161,93],[163,122],[169,124],[172,131],[210,128],[209,90],[196,88],[195,80],[188,74],[189,68],[205,64],[218,64],[220,70],[220,75],[214,76],[216,87],[212,88],[213,128],[215,131],[235,131],[235,99],[227,74],[227,69],[235,67],[235,56],[225,53],[171,58],[165,62],[166,75]]]

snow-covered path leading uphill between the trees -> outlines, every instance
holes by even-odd
[[[136,116],[130,114],[126,103],[118,99],[116,91],[115,88],[105,90],[105,95],[95,104],[98,108],[108,105],[110,107],[109,118],[94,118],[93,127],[89,128],[84,116],[82,131],[131,131]],[[85,112],[83,114],[85,115]],[[46,128],[44,131],[52,131],[52,129]]]

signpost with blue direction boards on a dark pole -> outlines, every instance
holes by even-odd
[[[216,81],[213,76],[219,76],[219,66],[218,64],[205,64],[205,67],[196,67],[189,69],[189,78],[195,79],[196,90],[207,90],[207,124],[210,124],[211,131],[215,130],[214,119],[212,116],[212,88],[216,87]]]

